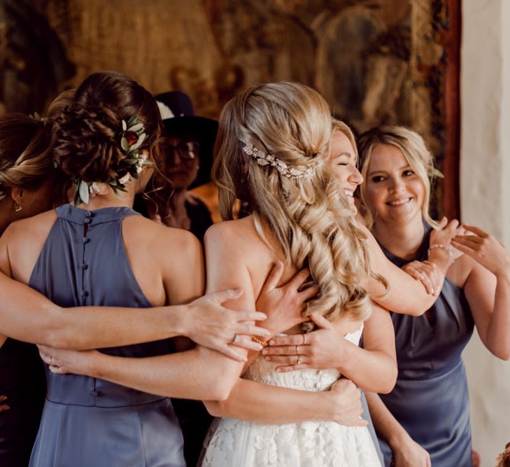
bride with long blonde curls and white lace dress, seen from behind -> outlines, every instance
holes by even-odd
[[[334,322],[357,345],[371,314],[364,288],[371,272],[366,237],[325,163],[330,138],[329,108],[304,85],[258,85],[225,106],[213,167],[220,211],[232,219],[236,197],[248,200],[254,211],[208,230],[208,288],[243,288],[243,298],[230,306],[245,309],[255,303],[276,261],[285,263],[284,281],[308,267],[319,292],[307,313]],[[302,326],[311,330],[313,321],[287,333],[300,333]],[[303,391],[325,391],[339,378],[334,369],[278,372],[262,357],[249,363],[238,366],[244,378]],[[394,375],[388,372],[390,379]],[[379,461],[366,426],[264,425],[224,418],[211,433],[202,465],[375,466]]]

